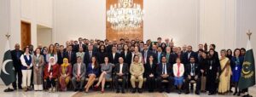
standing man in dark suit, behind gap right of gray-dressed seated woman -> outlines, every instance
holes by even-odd
[[[120,56],[120,54],[117,53],[116,51],[117,51],[117,47],[113,46],[112,52],[108,53],[109,63],[113,63],[114,65],[119,62],[119,56]]]

